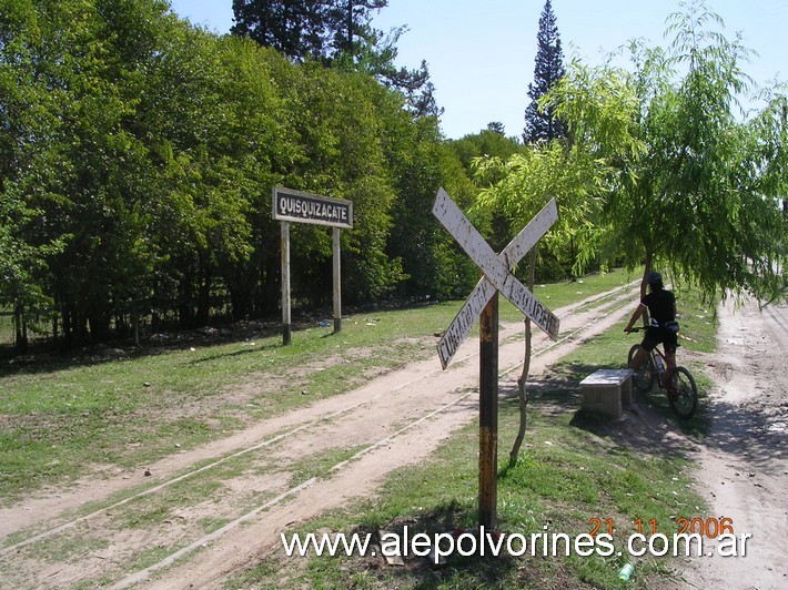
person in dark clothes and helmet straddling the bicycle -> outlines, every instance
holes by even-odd
[[[663,277],[656,271],[648,273],[646,282],[650,291],[638,304],[637,309],[635,309],[629,319],[629,324],[624,328],[624,332],[629,333],[635,322],[648,309],[649,325],[646,328],[643,343],[640,343],[640,348],[629,364],[629,368],[640,367],[659,343],[665,345],[668,366],[673,367],[676,365],[676,347],[678,346],[678,337],[676,336],[678,332],[676,297],[673,292],[665,289]]]

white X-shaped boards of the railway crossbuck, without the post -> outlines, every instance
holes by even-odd
[[[496,289],[555,340],[558,337],[560,321],[512,274],[514,266],[558,218],[555,199],[547,203],[498,255],[443,189],[435,199],[433,215],[484,274],[437,345],[443,368],[448,366]]]

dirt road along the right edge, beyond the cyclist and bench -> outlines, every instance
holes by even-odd
[[[697,588],[788,588],[788,307],[736,313],[720,306],[718,352],[707,360],[717,387],[713,426],[697,461],[700,489],[735,533],[751,533],[746,557],[695,558]]]

